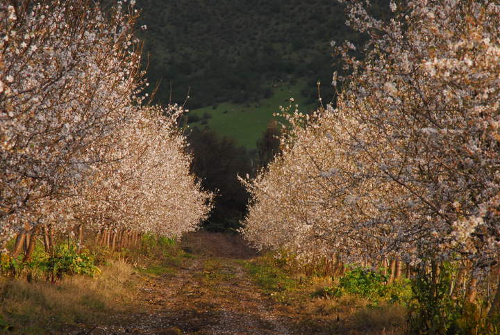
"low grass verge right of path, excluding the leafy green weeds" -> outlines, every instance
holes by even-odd
[[[272,299],[287,304],[297,320],[297,332],[319,334],[402,334],[406,309],[399,304],[372,302],[356,295],[331,298],[324,288],[332,277],[306,276],[285,268],[272,254],[242,261],[253,281]]]

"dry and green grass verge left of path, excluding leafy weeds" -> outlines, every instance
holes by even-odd
[[[173,276],[181,264],[194,258],[174,240],[155,236],[144,236],[140,246],[131,250],[111,253],[93,247],[91,251],[101,270],[95,277],[68,275],[51,284],[37,268],[14,277],[0,276],[0,334],[47,334],[48,329],[64,334],[106,324],[140,309],[139,286],[154,277]],[[43,252],[38,245],[35,258]]]

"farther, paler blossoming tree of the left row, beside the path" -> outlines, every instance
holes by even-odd
[[[131,233],[178,238],[197,229],[212,196],[201,192],[190,174],[191,158],[176,126],[181,113],[178,106],[138,108],[101,142],[110,162],[94,168],[78,184],[78,195],[67,197],[64,210],[53,213],[99,231],[101,243],[110,247]]]

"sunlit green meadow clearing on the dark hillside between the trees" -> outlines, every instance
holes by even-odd
[[[301,111],[315,108],[315,104],[306,104],[306,99],[301,95],[300,91],[305,85],[302,81],[294,85],[279,83],[273,88],[274,94],[269,99],[250,104],[226,102],[192,110],[190,115],[197,115],[200,120],[190,123],[189,126],[208,126],[221,136],[234,138],[238,145],[254,149],[269,121],[283,121],[283,118],[274,117],[273,113],[279,112],[279,106],[289,106],[290,98],[294,98],[293,104],[299,104]],[[210,118],[203,119],[203,115],[210,115]]]

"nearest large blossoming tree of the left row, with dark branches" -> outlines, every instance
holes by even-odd
[[[135,15],[90,1],[3,1],[0,220],[3,236],[43,222],[47,197],[71,193],[99,163],[138,92]],[[10,234],[8,234],[10,233]]]

